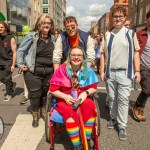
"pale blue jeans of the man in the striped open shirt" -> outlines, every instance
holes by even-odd
[[[111,77],[106,79],[111,102],[110,117],[117,120],[119,128],[127,126],[131,83],[125,70],[111,70]]]

